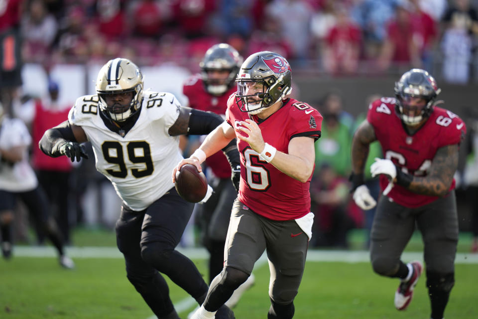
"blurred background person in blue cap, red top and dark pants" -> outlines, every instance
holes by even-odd
[[[58,84],[48,83],[49,97],[35,102],[35,117],[32,123],[33,145],[38,145],[43,133],[65,121],[70,111],[69,105],[58,103]],[[33,168],[38,182],[45,189],[49,202],[56,204],[54,214],[65,243],[70,242],[70,223],[68,217],[69,179],[72,165],[67,157],[51,158],[39,148],[33,150]],[[50,207],[50,211],[54,211]]]

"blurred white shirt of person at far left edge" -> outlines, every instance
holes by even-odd
[[[23,159],[13,165],[0,161],[0,189],[11,192],[23,192],[38,186],[35,172],[28,162],[30,133],[19,119],[4,118],[0,124],[0,149],[9,150],[24,147]]]

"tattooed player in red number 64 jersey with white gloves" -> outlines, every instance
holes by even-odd
[[[416,223],[424,242],[432,319],[443,318],[455,283],[458,218],[453,175],[466,133],[456,114],[435,106],[439,93],[427,71],[411,69],[395,83],[395,98],[370,104],[352,142],[354,199],[363,209],[376,204],[363,183],[369,144],[378,140],[385,157],[370,166],[372,176],[380,175],[383,190],[370,235],[373,270],[401,280],[395,307],[405,310],[423,270],[419,261],[400,260]]]

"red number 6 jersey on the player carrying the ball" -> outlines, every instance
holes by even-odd
[[[292,138],[309,136],[317,140],[320,137],[322,115],[308,104],[294,99],[287,99],[284,103],[282,108],[257,124],[264,142],[288,154]],[[250,119],[249,114],[240,111],[236,96],[231,96],[226,121],[236,128],[246,119]],[[256,120],[254,116],[252,119]],[[255,213],[272,220],[293,220],[308,214],[312,174],[307,182],[302,183],[271,163],[260,160],[248,143],[237,140],[241,166],[239,200]]]

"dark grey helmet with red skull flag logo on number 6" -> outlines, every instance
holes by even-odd
[[[257,114],[285,99],[292,91],[292,73],[287,60],[269,51],[250,55],[239,69],[236,79],[236,103],[242,112]]]

